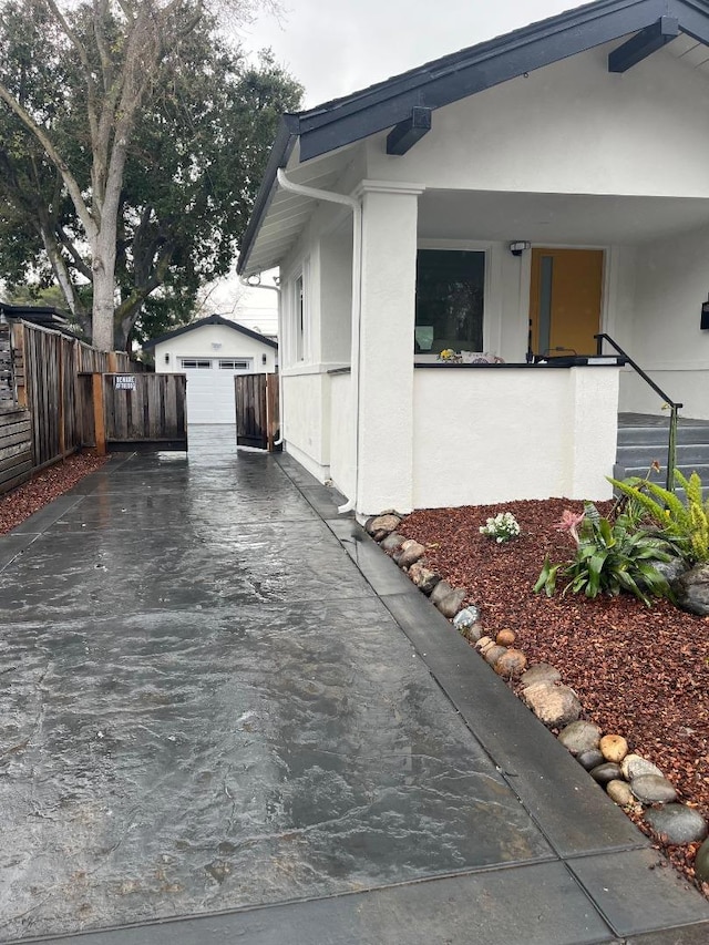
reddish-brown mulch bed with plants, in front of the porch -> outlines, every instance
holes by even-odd
[[[599,504],[602,512],[608,507]],[[466,603],[482,608],[489,636],[514,630],[515,647],[531,664],[551,662],[561,671],[577,692],[584,718],[606,735],[625,736],[630,751],[669,778],[678,800],[709,821],[709,618],[667,600],[648,608],[630,595],[589,600],[534,594],[546,553],[552,562],[573,554],[569,535],[554,528],[565,509],[583,511],[582,503],[563,499],[423,510],[398,531],[425,545],[429,566],[464,588]],[[479,527],[505,511],[516,517],[522,534],[499,545]],[[696,882],[699,844],[668,848],[633,819]],[[709,884],[702,892],[709,896]]]

